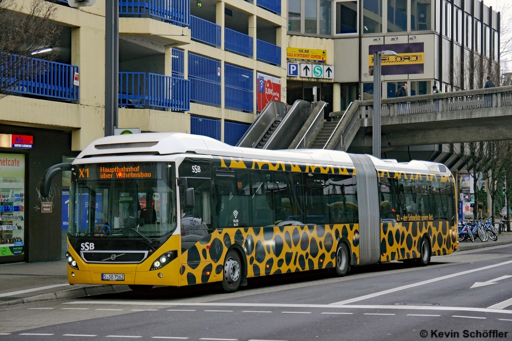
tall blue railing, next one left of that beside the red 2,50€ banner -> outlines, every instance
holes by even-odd
[[[188,53],[190,100],[221,105],[221,62],[195,53]]]

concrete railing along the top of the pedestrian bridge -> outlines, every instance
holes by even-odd
[[[502,106],[512,106],[512,86],[385,99],[380,115],[421,115]],[[373,101],[360,101],[359,112],[360,118],[372,117]]]

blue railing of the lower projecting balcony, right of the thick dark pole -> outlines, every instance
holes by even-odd
[[[119,73],[119,105],[190,110],[188,79],[145,72]]]

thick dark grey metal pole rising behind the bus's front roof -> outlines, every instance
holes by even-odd
[[[105,0],[105,136],[114,135],[117,123],[119,75],[119,4]]]

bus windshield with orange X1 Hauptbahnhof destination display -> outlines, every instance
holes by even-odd
[[[174,167],[156,162],[73,165],[70,236],[152,244],[170,235],[177,213]]]

